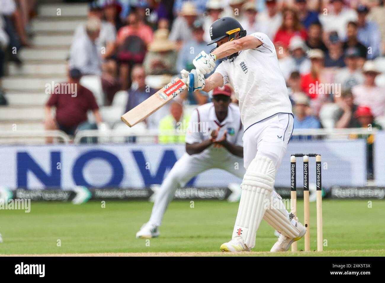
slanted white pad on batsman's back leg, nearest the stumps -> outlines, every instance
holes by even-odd
[[[300,230],[296,228],[294,219],[290,221],[289,213],[285,209],[281,196],[273,191],[270,199],[274,200],[275,205],[266,209],[263,219],[286,237],[298,237]]]

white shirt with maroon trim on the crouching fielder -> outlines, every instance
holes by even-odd
[[[223,137],[225,131],[226,140],[231,144],[243,146],[243,127],[241,115],[237,105],[230,103],[226,118],[219,123],[214,109],[213,102],[199,106],[192,112],[189,126],[186,133],[186,143],[203,142],[210,138],[209,133],[219,128],[218,139]],[[193,156],[209,159],[211,161],[223,161],[233,156],[225,147],[220,144],[212,144],[204,151]]]

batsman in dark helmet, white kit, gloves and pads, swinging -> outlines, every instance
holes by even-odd
[[[291,103],[278,64],[275,47],[266,34],[246,31],[231,17],[219,18],[210,27],[210,44],[217,48],[202,51],[193,60],[196,69],[188,75],[194,91],[210,90],[230,84],[239,100],[243,133],[243,158],[246,173],[231,241],[222,251],[249,251],[255,246],[256,233],[264,219],[280,236],[271,251],[287,251],[306,233],[293,213],[288,213],[274,191],[275,174],[280,167],[293,132]],[[215,72],[215,61],[223,62]],[[182,78],[186,77],[181,72]],[[274,199],[278,205],[267,203]]]

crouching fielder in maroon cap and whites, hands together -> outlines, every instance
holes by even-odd
[[[228,86],[218,87],[214,89],[213,102],[199,106],[192,113],[186,133],[186,153],[164,179],[150,220],[136,233],[136,238],[159,236],[159,226],[176,189],[184,187],[199,173],[219,168],[243,178],[243,127],[238,106],[230,103],[230,96]]]

